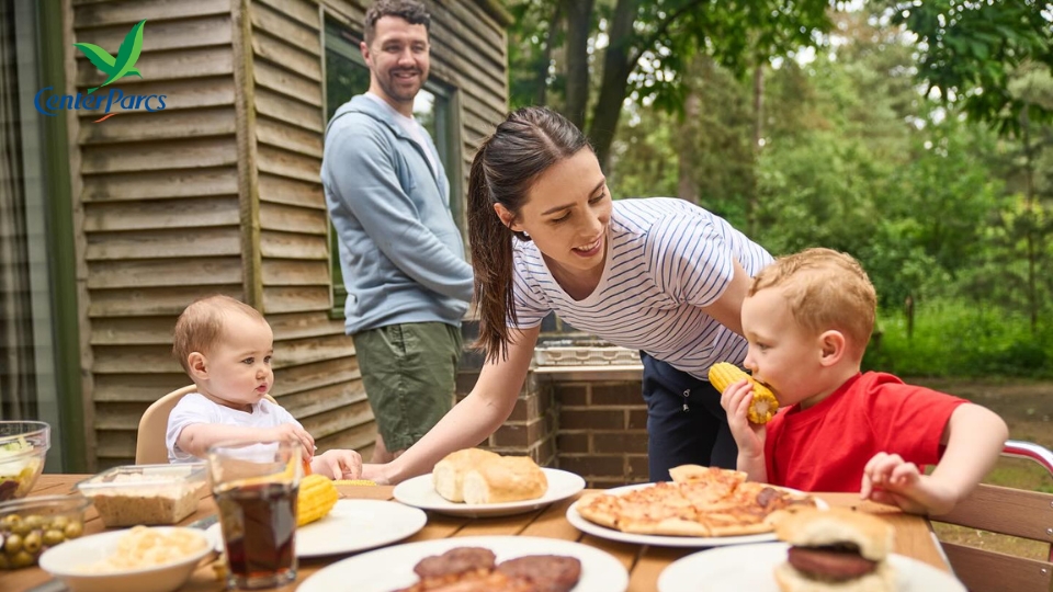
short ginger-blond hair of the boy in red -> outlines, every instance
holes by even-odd
[[[749,296],[781,288],[794,320],[818,335],[830,329],[849,339],[862,356],[874,330],[878,295],[856,259],[830,249],[807,249],[781,257],[754,277]]]

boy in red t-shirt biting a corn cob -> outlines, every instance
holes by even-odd
[[[767,425],[750,423],[749,383],[724,390],[738,468],[756,481],[947,513],[994,466],[1006,423],[964,399],[861,374],[875,310],[863,269],[829,249],[780,258],[754,278],[745,365],[782,409]],[[931,464],[931,475],[919,468]]]

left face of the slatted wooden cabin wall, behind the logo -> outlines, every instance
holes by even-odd
[[[114,55],[147,19],[143,78],[113,87],[167,95],[165,111],[101,123],[81,112],[75,126],[97,442],[89,463],[104,468],[132,460],[141,412],[189,384],[170,355],[176,316],[203,294],[242,296],[231,15],[208,0],[72,0],[70,9],[75,41]],[[72,73],[80,92],[104,80],[79,52]]]

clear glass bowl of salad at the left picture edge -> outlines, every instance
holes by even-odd
[[[33,489],[52,445],[50,431],[43,421],[0,421],[0,502]]]

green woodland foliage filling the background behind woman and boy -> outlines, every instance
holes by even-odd
[[[531,79],[563,100],[553,15],[568,1],[513,4],[513,101],[542,95]],[[801,23],[827,4],[596,0],[593,125],[605,35],[618,7],[636,11],[611,37],[638,57],[605,169],[613,194],[697,198],[774,254],[854,255],[882,310],[870,367],[1053,376],[1053,13],[1032,0],[836,3],[824,43]]]

